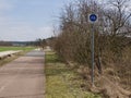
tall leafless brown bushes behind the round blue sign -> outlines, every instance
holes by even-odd
[[[131,46],[131,13],[127,13],[127,2],[112,0],[103,8],[93,0],[79,0],[66,5],[60,15],[61,33],[56,38],[55,50],[66,61],[91,66],[88,14],[95,12],[99,16],[94,24],[96,65],[100,60],[105,66],[110,62],[121,63],[126,48]]]

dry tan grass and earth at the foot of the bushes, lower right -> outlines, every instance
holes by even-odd
[[[86,88],[93,93],[102,94],[104,98],[131,98],[131,91],[123,89],[119,84],[119,81],[114,81],[117,77],[110,77],[114,74],[114,70],[109,69],[109,73],[103,73],[99,75],[97,71],[95,71],[95,86],[92,87],[91,83],[91,71],[85,66],[80,66],[78,72],[82,75],[83,79],[85,79],[84,88]],[[119,78],[120,79],[120,78]],[[82,86],[83,88],[83,86]]]

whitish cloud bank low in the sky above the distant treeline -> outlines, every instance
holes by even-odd
[[[10,22],[9,22],[10,23]],[[35,40],[53,36],[52,28],[48,26],[36,27],[26,23],[10,23],[0,26],[0,40]]]

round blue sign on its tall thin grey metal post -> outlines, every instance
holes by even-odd
[[[92,23],[92,38],[91,38],[91,46],[92,46],[92,85],[94,86],[94,23],[97,22],[98,15],[90,14],[88,22]]]

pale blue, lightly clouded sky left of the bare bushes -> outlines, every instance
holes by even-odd
[[[52,25],[71,0],[0,0],[0,40],[35,40],[53,36]]]

